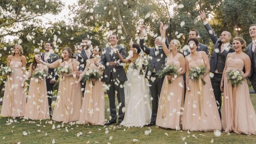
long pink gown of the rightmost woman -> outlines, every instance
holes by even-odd
[[[227,70],[243,70],[244,61],[228,57]],[[222,127],[225,132],[238,134],[256,134],[256,114],[250,100],[247,81],[232,87],[224,77],[224,103],[222,108]]]

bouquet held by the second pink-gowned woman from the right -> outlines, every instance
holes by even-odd
[[[206,71],[206,67],[203,66],[203,65],[201,65],[199,67],[193,67],[189,71],[189,79],[190,80],[198,80],[199,78],[201,78],[201,80],[203,82],[203,85],[205,85],[206,82],[202,78],[202,76],[204,75],[205,71]]]

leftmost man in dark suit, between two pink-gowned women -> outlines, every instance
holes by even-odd
[[[50,41],[45,42],[45,53],[42,53],[42,61],[47,63],[53,63],[56,60],[59,59],[59,56],[54,54],[54,51],[52,49],[52,43]],[[49,110],[50,110],[50,116],[52,116],[52,93],[53,93],[53,86],[58,79],[58,77],[55,75],[54,68],[48,69],[48,77],[46,78],[46,87],[47,87],[47,94],[48,94],[48,103],[49,103]]]

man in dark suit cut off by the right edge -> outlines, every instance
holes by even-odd
[[[251,43],[246,48],[246,53],[251,59],[251,74],[250,74],[250,81],[251,85],[256,92],[256,25],[251,25],[249,27],[249,34],[251,36]]]

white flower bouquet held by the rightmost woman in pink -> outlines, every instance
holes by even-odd
[[[226,72],[227,81],[231,82],[232,86],[238,86],[245,80],[241,71],[236,69],[230,69]]]

